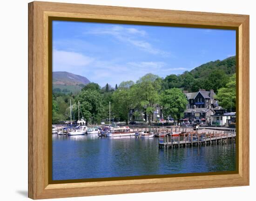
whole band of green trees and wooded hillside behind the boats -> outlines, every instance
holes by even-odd
[[[188,103],[182,90],[195,92],[200,88],[207,91],[213,89],[219,105],[235,111],[235,65],[235,57],[231,57],[223,61],[209,62],[181,75],[171,74],[160,78],[149,73],[136,82],[124,81],[119,85],[115,84],[115,88],[108,83],[102,88],[96,83],[89,83],[76,95],[53,91],[52,121],[58,123],[69,119],[70,99],[73,119],[78,119],[79,101],[83,117],[88,123],[100,123],[108,119],[109,102],[112,105],[111,118],[126,123],[129,120],[129,111],[137,109],[134,116],[140,117],[141,113],[145,113],[150,124],[157,105],[162,109],[164,117],[178,119],[183,117]]]

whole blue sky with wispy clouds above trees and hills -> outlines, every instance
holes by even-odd
[[[53,71],[101,86],[182,74],[235,54],[234,30],[53,21]]]

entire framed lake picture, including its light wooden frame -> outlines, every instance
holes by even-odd
[[[249,185],[249,16],[28,8],[30,198]]]

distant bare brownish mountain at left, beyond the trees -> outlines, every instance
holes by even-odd
[[[53,72],[53,92],[77,93],[90,83],[88,78],[70,72]]]

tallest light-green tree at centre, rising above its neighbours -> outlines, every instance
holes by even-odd
[[[161,91],[162,79],[151,73],[146,74],[136,82],[133,87],[136,101],[148,114],[148,124],[154,114],[155,106],[159,103],[159,92]]]

